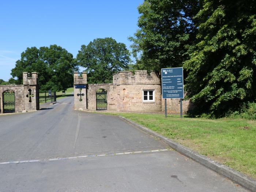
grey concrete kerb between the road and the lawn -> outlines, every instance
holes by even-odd
[[[226,165],[223,165],[221,163],[213,161],[211,158],[208,158],[204,155],[200,155],[196,151],[193,151],[187,147],[182,146],[179,143],[176,143],[172,141],[171,139],[165,138],[162,135],[159,135],[158,133],[152,131],[151,129],[148,129],[146,127],[143,127],[125,117],[118,116],[121,120],[132,124],[134,127],[141,129],[142,131],[161,139],[165,143],[167,143],[170,147],[172,147],[174,150],[176,150],[178,153],[181,153],[182,155],[185,155],[191,159],[193,159],[196,162],[199,162],[200,164],[214,170],[215,172],[222,174],[223,176],[229,178],[230,180],[242,185],[243,187],[256,192],[256,180],[254,180],[251,177],[246,176],[245,174],[242,174]]]

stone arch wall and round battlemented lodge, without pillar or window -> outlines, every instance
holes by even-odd
[[[128,112],[161,111],[161,84],[154,71],[120,71],[113,75],[113,83],[88,84],[87,109],[96,110],[96,91],[107,91],[108,110]],[[143,102],[143,90],[154,90],[154,101]]]

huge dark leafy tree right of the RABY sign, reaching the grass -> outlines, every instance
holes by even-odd
[[[255,0],[205,0],[198,12],[197,44],[184,67],[191,114],[222,117],[256,96]]]

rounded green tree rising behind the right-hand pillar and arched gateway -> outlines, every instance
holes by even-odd
[[[76,59],[86,68],[88,83],[112,83],[114,73],[128,68],[130,53],[125,44],[111,37],[97,38],[82,45]]]

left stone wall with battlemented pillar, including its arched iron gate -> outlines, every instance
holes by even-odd
[[[39,110],[38,74],[23,72],[22,85],[0,85],[0,113]]]

